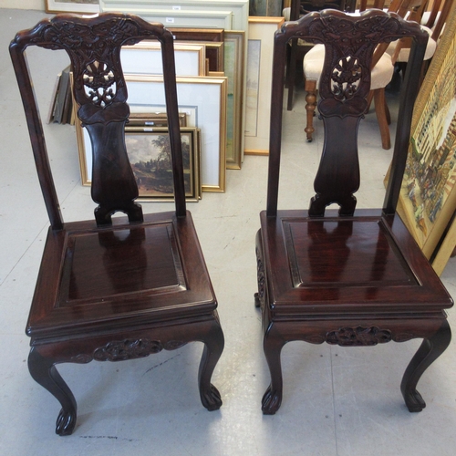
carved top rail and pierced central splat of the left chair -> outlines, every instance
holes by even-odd
[[[67,51],[78,117],[92,142],[91,194],[98,203],[95,213],[100,225],[109,224],[111,214],[118,211],[126,212],[131,222],[142,221],[140,204],[134,202],[138,187],[122,140],[130,108],[120,48],[147,38],[172,47],[164,31],[161,24],[149,26],[126,16],[111,15],[104,21],[89,22],[61,15],[41,22],[27,36],[16,36],[14,47],[18,50],[34,45]],[[167,56],[163,54],[164,63],[174,68]]]

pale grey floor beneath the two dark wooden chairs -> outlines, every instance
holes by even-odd
[[[242,171],[227,172],[224,194],[204,193],[190,209],[219,300],[226,338],[213,383],[223,407],[202,408],[196,375],[202,345],[116,363],[64,365],[60,371],[78,399],[71,437],[54,434],[59,406],[26,368],[26,316],[47,230],[34,162],[7,45],[33,26],[38,12],[0,10],[0,454],[2,455],[453,455],[456,449],[455,342],[420,380],[428,407],[405,408],[403,370],[419,341],[375,348],[290,343],[283,351],[285,394],[275,416],[260,399],[269,377],[254,308],[254,234],[265,206],[265,157],[247,156]],[[47,60],[54,57],[53,60]],[[30,66],[46,117],[49,92],[65,57],[34,49]],[[285,112],[281,207],[306,205],[318,161],[316,140],[305,140],[303,92]],[[316,120],[316,123],[318,120]],[[74,128],[46,125],[49,156],[66,220],[91,217],[94,204],[78,173]],[[381,150],[374,114],[360,129],[364,183],[360,207],[382,203],[390,152]],[[302,176],[303,182],[293,175]],[[143,204],[146,211],[168,204]],[[456,297],[456,258],[442,279]],[[455,311],[450,323],[456,327]]]

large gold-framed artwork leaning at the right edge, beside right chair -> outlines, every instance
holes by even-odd
[[[456,5],[420,88],[412,120],[409,157],[398,212],[438,273],[453,249],[456,211]],[[454,230],[454,229],[453,229]],[[442,247],[445,246],[445,247]],[[446,252],[440,252],[445,248]],[[446,261],[442,262],[444,256]],[[443,265],[442,265],[443,264]]]

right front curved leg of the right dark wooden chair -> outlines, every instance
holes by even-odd
[[[411,359],[400,383],[400,390],[409,411],[421,411],[426,407],[426,402],[416,389],[417,384],[424,371],[440,357],[450,342],[451,329],[447,320],[443,320],[439,331],[434,336],[424,339]]]

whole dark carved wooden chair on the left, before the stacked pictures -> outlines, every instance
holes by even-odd
[[[125,149],[130,109],[119,54],[121,46],[146,38],[161,42],[176,210],[143,216]],[[77,404],[57,372],[58,363],[144,358],[201,341],[202,405],[209,410],[222,405],[211,377],[223,351],[223,331],[185,206],[172,41],[161,24],[135,16],[61,15],[19,32],[10,45],[50,219],[26,326],[31,337],[28,368],[62,406],[59,435],[74,430]],[[64,223],[60,214],[26,65],[29,46],[64,49],[70,57],[78,117],[93,148],[94,221]],[[111,219],[119,211],[128,218]]]

